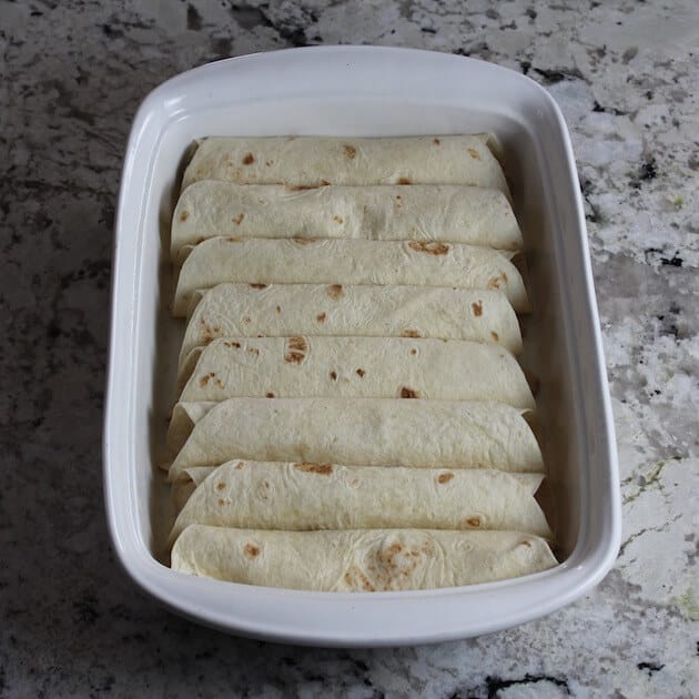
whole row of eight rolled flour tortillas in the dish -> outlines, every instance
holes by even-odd
[[[510,355],[521,235],[492,145],[199,144],[172,227],[189,315],[173,568],[379,590],[555,565]]]

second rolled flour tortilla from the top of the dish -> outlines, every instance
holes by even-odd
[[[459,185],[322,186],[191,184],[172,217],[171,254],[215,236],[445,241],[521,250],[499,190]]]

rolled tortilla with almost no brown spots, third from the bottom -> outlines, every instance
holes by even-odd
[[[169,479],[181,479],[192,466],[234,458],[544,473],[524,413],[502,403],[419,398],[178,403],[170,434],[178,437],[171,445],[179,453]]]

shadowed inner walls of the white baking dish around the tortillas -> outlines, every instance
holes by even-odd
[[[185,112],[165,122],[153,153],[143,192],[141,225],[134,235],[136,287],[133,290],[135,332],[133,353],[138,392],[131,396],[136,436],[132,448],[138,465],[135,502],[139,528],[153,557],[166,563],[164,541],[172,521],[163,460],[166,422],[175,396],[176,357],[184,321],[170,315],[174,278],[169,260],[172,211],[182,172],[196,138],[203,135],[411,135],[478,133],[499,138],[503,165],[525,240],[528,291],[534,312],[524,316],[524,368],[538,381],[537,434],[547,466],[544,506],[556,536],[556,554],[564,561],[578,540],[581,525],[584,428],[574,401],[578,389],[570,365],[570,318],[560,293],[567,288],[560,236],[566,221],[550,197],[551,179],[560,163],[544,160],[543,144],[530,123],[513,114],[478,111],[442,103],[391,99],[308,97],[259,100],[205,112]],[[155,273],[158,271],[158,273]],[[138,342],[136,342],[138,340]]]

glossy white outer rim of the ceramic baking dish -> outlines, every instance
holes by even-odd
[[[362,54],[363,59],[377,58],[381,60],[385,60],[386,58],[389,60],[401,60],[409,55],[412,59],[425,59],[425,62],[435,61],[435,65],[440,61],[459,61],[462,62],[460,65],[465,75],[469,72],[490,72],[494,75],[507,73],[509,80],[523,81],[523,84],[526,84],[529,90],[534,87],[536,91],[538,91],[539,98],[554,115],[556,126],[564,141],[564,155],[568,168],[567,175],[575,179],[577,182],[570,138],[563,114],[554,99],[546,90],[529,78],[520,75],[509,69],[475,59],[432,51],[389,47],[342,45],[283,49],[205,64],[175,75],[155,88],[143,100],[139,108],[130,133],[115,216],[112,259],[112,302],[109,372],[104,413],[103,475],[109,529],[120,564],[141,589],[178,614],[209,626],[233,631],[236,635],[277,641],[293,641],[305,645],[320,644],[324,646],[351,647],[436,642],[499,630],[549,614],[582,596],[591,587],[597,585],[614,565],[621,537],[620,497],[618,487],[611,488],[609,493],[605,494],[607,496],[605,508],[606,543],[597,541],[591,551],[588,550],[586,553],[586,548],[589,548],[590,543],[587,540],[589,538],[587,536],[588,533],[581,530],[576,547],[568,559],[550,570],[513,580],[460,588],[443,588],[438,590],[417,590],[409,592],[308,592],[252,587],[194,578],[175,573],[159,564],[153,558],[145,541],[138,531],[138,525],[134,518],[128,518],[130,526],[126,526],[124,523],[124,513],[121,511],[121,505],[116,497],[119,486],[116,469],[121,466],[114,464],[115,455],[112,452],[112,445],[119,434],[114,414],[119,409],[119,395],[121,393],[118,387],[121,377],[118,371],[120,367],[115,361],[115,354],[119,350],[118,338],[123,336],[124,328],[122,326],[122,318],[124,317],[124,313],[125,317],[131,318],[131,336],[133,336],[135,332],[136,314],[134,308],[136,307],[138,298],[135,296],[130,297],[124,291],[125,282],[122,281],[123,263],[120,253],[120,242],[124,235],[123,212],[130,204],[131,178],[136,164],[135,161],[140,148],[142,148],[141,139],[143,130],[150,120],[159,115],[170,120],[178,116],[178,94],[181,93],[182,89],[186,88],[188,83],[192,80],[204,81],[207,75],[214,72],[219,73],[220,71],[230,69],[240,71],[244,69],[246,64],[259,67],[261,63],[272,63],[278,59],[293,61],[295,57],[307,55],[308,53],[313,55],[325,54],[326,63],[330,63],[331,59],[335,61],[340,59],[340,62],[343,62],[352,57],[358,57],[359,54]],[[429,69],[425,68],[425,70],[432,71],[434,69],[430,67]],[[165,108],[163,108],[163,105],[165,105]],[[163,121],[161,124],[161,136],[164,130],[166,130],[168,124],[168,121]],[[152,166],[153,162],[149,162],[149,182]],[[576,193],[576,200],[573,202],[577,224],[576,233],[579,233],[580,236],[585,236],[585,217],[582,215],[580,194],[577,189]],[[142,194],[141,210],[144,207],[145,196],[146,194],[144,192]],[[588,366],[594,369],[594,379],[597,382],[597,389],[601,396],[601,405],[599,405],[599,408],[605,426],[604,442],[609,445],[609,448],[604,454],[599,455],[598,459],[604,460],[606,464],[606,473],[610,483],[618,486],[618,463],[616,449],[614,448],[616,444],[614,421],[605,373],[601,333],[599,331],[591,265],[587,250],[587,241],[581,237],[579,242],[584,246],[579,260],[582,264],[585,277],[584,291],[586,292],[586,298],[584,302],[586,303],[586,311],[590,314],[594,326],[591,343],[595,356],[588,357]],[[135,256],[140,265],[140,250],[135,251]],[[136,272],[133,272],[133,274],[135,275]],[[126,288],[126,291],[129,290]],[[133,307],[124,307],[126,302],[132,302]],[[131,455],[133,457],[132,452]],[[129,499],[131,506],[133,506],[136,494],[132,492],[134,483],[131,477],[129,478]],[[513,600],[506,600],[506,598],[511,598],[513,595],[504,595],[502,592],[502,590],[508,590],[510,588],[516,588],[517,596],[519,597],[519,601],[514,608],[510,609],[508,605],[504,605],[506,611],[499,616],[496,614],[489,619],[478,617],[476,610],[477,607],[482,605],[494,605],[497,602],[503,606],[503,602],[508,601],[511,607]],[[201,598],[199,596],[201,596]],[[216,602],[217,607],[210,604],[213,598],[220,597],[227,599],[230,604],[227,611],[225,611],[225,606],[222,611],[220,606],[221,599]],[[202,601],[202,599],[205,601]],[[331,624],[330,626],[325,625],[324,628],[321,628],[318,625],[314,626],[307,621],[305,626],[300,625],[300,620],[306,618],[303,614],[296,614],[295,618],[286,618],[288,615],[285,616],[283,614],[280,614],[275,618],[273,615],[266,614],[266,619],[255,616],[254,614],[252,616],[246,614],[249,611],[247,607],[252,602],[261,605],[272,604],[277,611],[283,611],[284,606],[290,601],[294,607],[297,605],[303,606],[306,609],[306,617],[311,620],[313,620],[312,612],[317,615],[321,609],[327,610],[327,605],[333,604],[333,615],[335,615],[335,617],[342,617],[342,619],[347,621],[351,620],[352,615],[358,614],[367,620],[368,626],[357,628],[355,625],[351,625],[352,628],[347,626],[342,628],[342,626],[337,624],[335,624],[334,627],[333,624]],[[240,605],[240,608],[236,608],[236,605]],[[454,618],[442,619],[443,624],[437,626],[427,624],[425,610],[421,609],[421,607],[425,605],[434,608],[435,611],[444,608],[444,611],[448,612]],[[406,624],[404,620],[403,624],[396,622],[391,627],[384,626],[383,630],[377,630],[377,627],[386,624],[385,617],[387,612],[393,614],[393,616],[397,618],[398,616],[409,615],[409,608],[413,608],[416,617],[419,617],[421,622]],[[456,614],[457,609],[462,614],[465,611],[469,612],[466,615],[467,618],[464,619],[459,617],[459,615]],[[294,615],[291,616],[294,617]],[[317,621],[317,619],[315,619],[315,621]],[[372,624],[374,624],[373,627]]]

